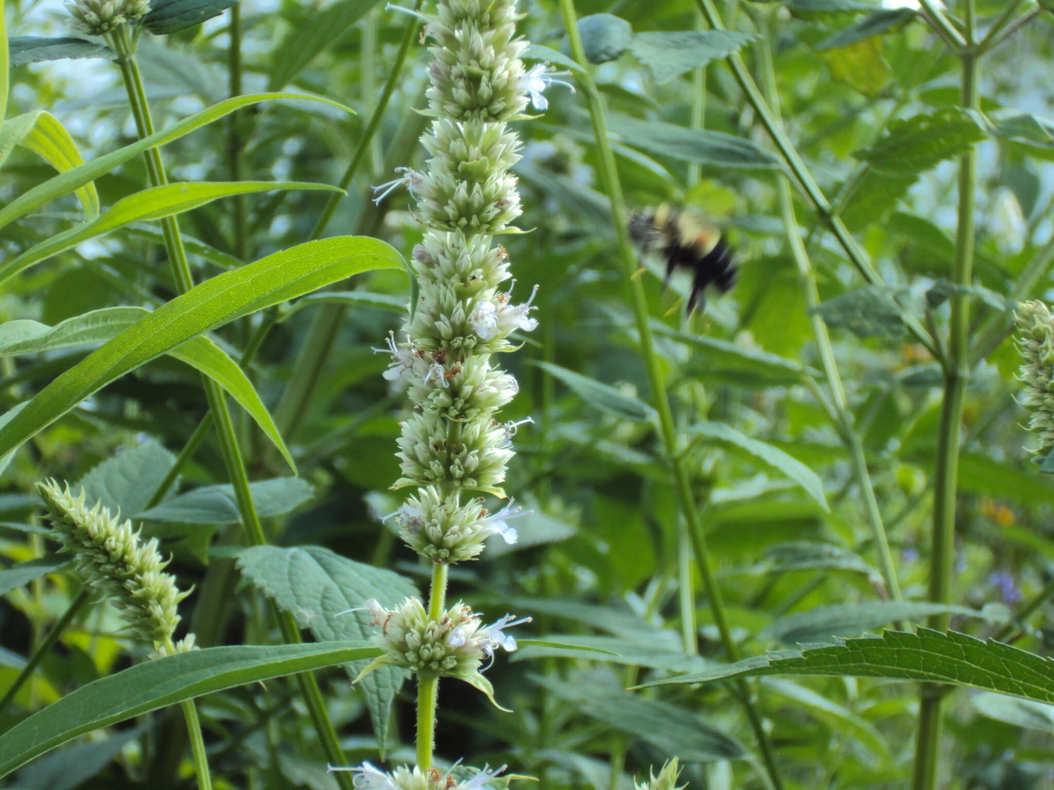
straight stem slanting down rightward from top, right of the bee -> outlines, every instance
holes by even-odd
[[[718,14],[718,9],[714,5],[714,0],[696,0],[696,2],[699,5],[700,11],[702,11],[703,16],[706,17],[706,21],[710,27],[716,31],[725,29],[724,23],[721,21],[721,15]],[[832,234],[834,234],[835,239],[838,241],[842,250],[845,251],[845,254],[853,262],[853,265],[856,266],[857,271],[860,272],[863,278],[872,284],[881,284],[881,276],[877,271],[875,271],[871,261],[867,260],[863,250],[856,242],[856,239],[853,238],[853,235],[845,226],[841,217],[835,214],[829,201],[823,195],[819,184],[817,184],[816,180],[808,172],[808,169],[802,161],[801,156],[799,156],[798,152],[794,147],[794,144],[790,142],[790,139],[783,131],[782,125],[769,110],[764,97],[761,95],[761,91],[758,90],[757,83],[755,83],[754,78],[750,77],[750,73],[746,67],[746,64],[743,62],[742,57],[740,57],[738,53],[733,53],[728,57],[728,64],[731,67],[733,75],[736,77],[736,81],[739,83],[740,88],[746,96],[746,100],[758,114],[759,120],[765,127],[768,136],[773,139],[773,142],[779,150],[784,162],[786,162],[786,165],[794,174],[795,181],[799,189],[813,204],[813,208],[816,210],[821,222],[826,225]],[[919,322],[919,320],[906,311],[901,311],[900,318],[911,333],[915,335],[915,338],[925,347],[926,351],[929,351],[931,355],[933,355],[934,359],[939,360],[940,356],[938,349],[934,344],[930,333]]]

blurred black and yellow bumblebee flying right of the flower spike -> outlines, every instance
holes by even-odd
[[[736,284],[736,261],[728,243],[720,230],[699,216],[663,203],[633,212],[628,230],[644,252],[666,261],[667,283],[674,270],[691,271],[688,315],[697,307],[706,308],[707,285],[724,294]]]

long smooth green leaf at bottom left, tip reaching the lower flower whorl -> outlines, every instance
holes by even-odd
[[[372,658],[363,641],[206,648],[155,658],[87,684],[0,735],[0,776],[85,732],[202,694]]]

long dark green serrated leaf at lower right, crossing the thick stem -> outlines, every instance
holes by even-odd
[[[1054,668],[1050,659],[994,639],[981,641],[956,631],[944,633],[929,628],[920,628],[917,634],[886,631],[882,636],[845,639],[841,645],[768,653],[639,688],[750,675],[923,680],[1054,703]]]

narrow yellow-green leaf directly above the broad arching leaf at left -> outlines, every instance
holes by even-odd
[[[76,225],[35,244],[21,255],[0,265],[0,283],[35,263],[101,236],[130,222],[161,219],[197,209],[213,200],[232,195],[274,190],[321,190],[343,192],[335,186],[302,181],[175,182],[129,195],[114,203],[94,222]]]

